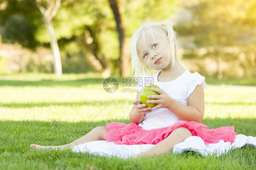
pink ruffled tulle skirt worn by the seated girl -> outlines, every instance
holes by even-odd
[[[205,144],[217,143],[220,140],[233,143],[236,137],[234,126],[224,126],[217,129],[208,129],[208,126],[198,122],[179,121],[170,127],[151,130],[142,129],[135,123],[125,124],[120,122],[106,123],[107,134],[104,138],[108,142],[122,145],[157,144],[167,138],[171,132],[179,127],[187,128],[192,136],[203,139]]]

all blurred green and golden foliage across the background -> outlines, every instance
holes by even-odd
[[[18,42],[31,50],[36,50],[38,46],[50,49],[42,14],[34,2],[0,1],[0,34],[4,43]],[[40,2],[47,6],[46,0]],[[174,19],[174,28],[177,33],[181,33],[182,62],[191,71],[218,78],[255,76],[255,8],[254,0],[119,0],[127,49],[132,33],[143,23],[175,18],[174,13],[181,11],[180,18],[176,18],[176,21]],[[105,61],[111,68],[119,69],[118,33],[107,0],[62,0],[61,7],[53,18],[53,25],[64,73],[93,70],[86,60],[88,53],[94,54],[103,66],[106,66]],[[47,69],[37,62],[32,66],[28,65],[28,71],[52,70],[48,69],[49,66],[45,68]]]

